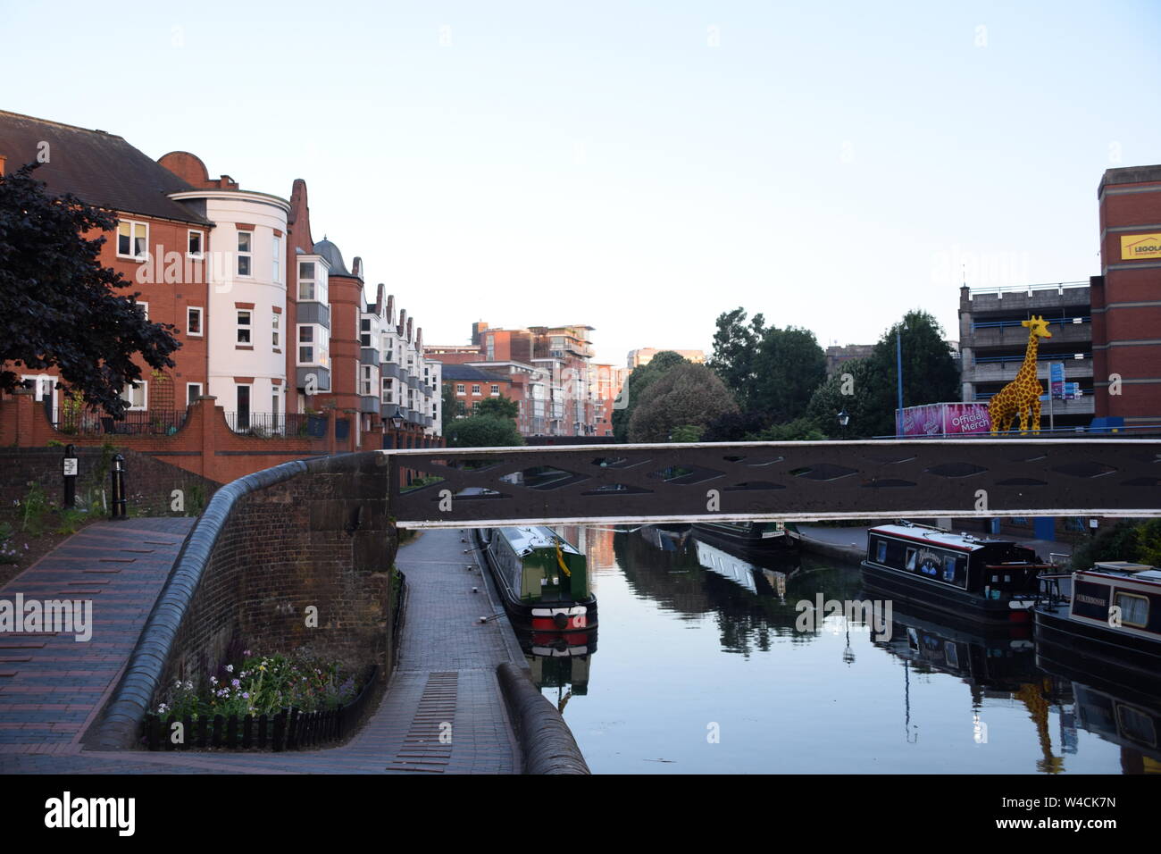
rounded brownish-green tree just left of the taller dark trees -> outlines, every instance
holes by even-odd
[[[737,411],[737,403],[717,374],[705,365],[677,365],[637,399],[628,438],[634,443],[668,442],[675,429],[704,428],[731,411]]]

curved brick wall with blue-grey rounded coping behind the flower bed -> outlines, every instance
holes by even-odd
[[[205,674],[231,645],[301,647],[361,669],[390,670],[387,457],[295,460],[218,489],[182,545],[92,749],[137,746],[158,688]],[[305,609],[318,609],[308,627]],[[240,645],[240,646],[239,646]]]

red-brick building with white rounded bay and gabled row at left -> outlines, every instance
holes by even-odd
[[[334,243],[313,242],[304,181],[282,199],[211,179],[186,151],[153,162],[118,136],[0,113],[0,173],[44,150],[35,175],[50,193],[117,215],[99,260],[150,320],[176,326],[181,349],[172,371],[125,389],[120,422],[85,412],[66,425],[55,372],[22,373],[29,394],[0,400],[6,444],[67,429],[75,444],[139,446],[217,482],[318,453],[441,444],[440,366],[423,330],[382,285],[367,301],[361,259],[348,268]]]

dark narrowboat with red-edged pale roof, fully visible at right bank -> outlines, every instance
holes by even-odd
[[[1011,540],[899,523],[867,531],[866,587],[903,602],[985,623],[1029,623],[1038,576],[1051,570]]]

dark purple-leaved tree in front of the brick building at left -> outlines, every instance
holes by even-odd
[[[137,306],[140,294],[118,295],[130,285],[99,260],[116,216],[72,194],[52,196],[33,178],[39,164],[0,175],[0,365],[34,371],[57,368],[59,387],[91,407],[120,417],[122,389],[140,380],[144,363],[160,371],[181,344],[168,323],[151,323]],[[0,390],[20,385],[0,369]]]

